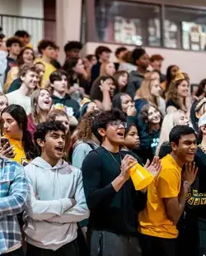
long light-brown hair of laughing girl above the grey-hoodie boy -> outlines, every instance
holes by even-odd
[[[40,89],[36,89],[32,93],[32,95],[30,97],[30,102],[31,102],[31,118],[35,122],[36,125],[40,123],[40,112],[37,111],[37,107],[38,107],[38,100],[39,100],[39,97],[40,97],[40,92],[42,90],[45,90],[45,91],[49,92],[49,94],[50,94],[49,89],[47,89],[47,88],[40,88]]]

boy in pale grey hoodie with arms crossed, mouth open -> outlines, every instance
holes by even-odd
[[[26,255],[76,256],[77,222],[89,216],[82,172],[62,159],[66,136],[61,122],[41,123],[34,137],[41,156],[25,167]]]

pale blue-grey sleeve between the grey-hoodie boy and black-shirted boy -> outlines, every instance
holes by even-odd
[[[90,145],[86,143],[81,143],[75,147],[73,150],[73,166],[81,169],[83,160],[86,158],[87,154],[91,151]]]

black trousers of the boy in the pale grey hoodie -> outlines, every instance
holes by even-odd
[[[79,256],[79,249],[77,247],[77,240],[63,245],[56,251],[51,249],[41,249],[34,245],[27,244],[26,256]]]

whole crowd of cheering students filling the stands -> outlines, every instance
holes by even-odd
[[[204,256],[206,79],[141,47],[81,50],[62,66],[52,40],[0,40],[0,254]]]

